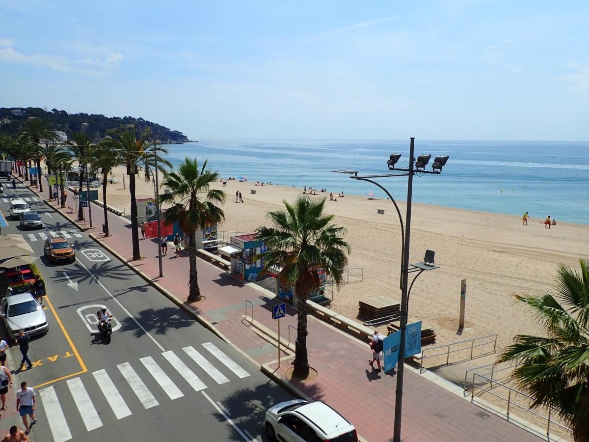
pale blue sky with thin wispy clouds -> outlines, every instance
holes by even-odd
[[[210,138],[589,140],[587,1],[0,0],[0,106]]]

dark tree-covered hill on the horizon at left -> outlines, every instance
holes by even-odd
[[[19,113],[19,111],[21,111]],[[170,130],[160,124],[152,123],[143,118],[133,117],[105,117],[98,114],[68,114],[64,110],[43,110],[39,107],[0,107],[0,134],[15,135],[22,130],[22,124],[27,118],[42,118],[51,122],[53,129],[65,132],[71,139],[75,132],[85,132],[91,140],[97,141],[104,137],[106,131],[115,129],[121,124],[135,123],[138,130],[151,128],[158,140],[164,144],[187,143],[188,137],[177,130]]]

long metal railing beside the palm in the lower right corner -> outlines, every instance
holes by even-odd
[[[484,388],[481,385],[477,385],[477,377],[479,378],[483,378],[484,381],[479,382],[479,384],[485,385],[485,384],[494,384],[495,387],[490,387],[490,388]],[[485,382],[486,381],[486,382]],[[484,375],[480,375],[477,373],[474,373],[472,375],[472,390],[471,390],[471,403],[475,404],[475,398],[478,397],[477,395],[475,395],[475,390],[481,390],[482,392],[486,392],[489,393],[491,395],[493,395],[493,397],[497,398],[499,400],[499,402],[504,403],[507,402],[507,409],[506,409],[506,413],[505,413],[505,418],[507,418],[507,420],[515,420],[517,421],[518,417],[525,419],[525,420],[531,420],[532,423],[534,424],[545,424],[546,425],[546,432],[544,434],[547,435],[547,437],[550,439],[550,430],[551,430],[551,426],[556,428],[556,430],[558,431],[558,433],[565,433],[567,434],[567,436],[571,436],[572,434],[572,430],[571,428],[568,428],[566,425],[561,424],[558,421],[555,421],[552,416],[554,415],[558,415],[560,413],[560,411],[558,410],[558,408],[555,407],[551,407],[548,404],[542,404],[540,405],[540,407],[536,407],[534,408],[534,410],[531,410],[530,408],[530,404],[531,402],[534,400],[530,395],[525,394],[524,392],[521,392],[519,390],[516,390],[515,388],[509,387],[509,385],[503,384],[502,382],[498,382],[498,381],[494,381],[491,380],[490,378],[484,376]],[[495,390],[491,391],[491,389]],[[501,394],[499,394],[498,390],[507,390],[507,398],[502,396]],[[521,404],[518,403],[517,398],[521,397],[521,398],[525,398],[525,401],[527,402],[527,404]],[[478,404],[477,405],[481,405]],[[514,413],[514,408],[515,408],[515,413]],[[542,411],[547,411],[548,415],[544,415],[544,413],[542,413]],[[521,414],[527,414],[525,417],[522,416]],[[512,417],[512,415],[515,417]],[[529,428],[528,428],[529,431]],[[554,433],[554,431],[553,431]],[[560,436],[560,434],[558,434],[558,436]],[[562,437],[562,436],[561,436]]]

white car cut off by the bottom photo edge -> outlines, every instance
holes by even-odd
[[[266,411],[266,434],[280,442],[358,442],[345,417],[323,402],[282,402]]]

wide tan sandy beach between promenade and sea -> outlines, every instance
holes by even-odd
[[[127,189],[123,189],[123,173],[117,168],[114,178],[118,184],[108,185],[107,202],[119,209],[130,207],[128,176]],[[153,197],[153,184],[137,178],[137,197]],[[219,230],[253,232],[267,223],[268,210],[280,209],[283,199],[292,202],[302,193],[292,187],[260,187],[254,183],[255,179],[247,183],[232,180],[223,188],[227,192],[227,220]],[[221,183],[215,187],[221,189]],[[235,203],[236,190],[243,194],[243,204]],[[101,191],[99,194],[102,197]],[[334,290],[330,308],[355,319],[360,299],[384,295],[400,302],[401,229],[393,204],[361,196],[330,202],[329,192],[319,193],[317,198],[323,196],[327,197],[326,212],[333,213],[335,222],[348,229],[346,240],[352,246],[349,267],[363,269],[362,282]],[[399,199],[404,197],[399,195]],[[405,219],[405,204],[399,205]],[[384,209],[385,214],[378,214],[377,209]],[[422,320],[423,328],[435,329],[436,344],[498,333],[501,348],[516,334],[541,332],[530,312],[514,303],[512,293],[554,292],[557,265],[578,266],[579,258],[589,256],[589,226],[558,220],[558,225],[548,230],[540,223],[548,214],[534,213],[533,207],[523,205],[522,213],[526,210],[532,218],[528,226],[522,226],[518,216],[413,204],[410,262],[421,261],[425,250],[432,249],[441,268],[424,272],[415,282],[409,321]],[[464,278],[466,321],[459,334]],[[386,331],[385,326],[380,329]]]

